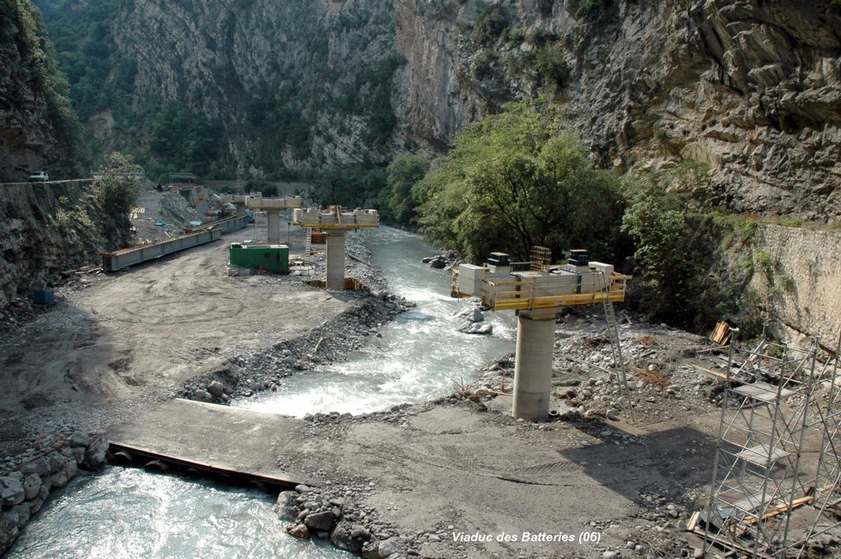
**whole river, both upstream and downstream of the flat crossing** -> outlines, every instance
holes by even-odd
[[[433,250],[417,235],[379,229],[370,247],[389,289],[417,308],[384,325],[382,337],[371,336],[351,360],[289,378],[278,393],[235,405],[291,415],[371,412],[452,393],[483,361],[514,350],[512,316],[486,314],[494,324],[492,336],[456,331],[463,319],[453,313],[468,303],[449,298],[449,272],[421,264]],[[9,557],[352,556],[329,542],[287,535],[272,511],[272,498],[256,490],[108,467],[95,477],[77,477],[54,495],[24,528]]]

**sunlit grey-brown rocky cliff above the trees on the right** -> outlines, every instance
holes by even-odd
[[[425,139],[446,140],[501,98],[546,85],[535,75],[539,58],[519,74],[511,61],[553,48],[563,61],[558,98],[602,165],[688,158],[711,167],[736,211],[841,214],[836,4],[628,1],[588,20],[571,15],[570,3],[555,2],[550,13],[519,0],[505,12],[525,33],[476,50],[475,3],[430,9],[401,0],[398,45],[410,69],[401,120]],[[529,41],[535,29],[557,40]],[[478,71],[488,53],[490,71]]]

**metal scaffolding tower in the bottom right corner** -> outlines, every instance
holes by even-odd
[[[762,340],[744,349],[731,341],[702,517],[710,556],[800,557],[812,538],[841,525],[831,514],[841,501],[838,348],[824,363],[820,353],[817,344],[803,351]],[[803,452],[816,435],[822,443],[812,469]]]

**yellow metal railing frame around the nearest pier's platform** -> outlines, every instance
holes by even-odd
[[[595,274],[594,274],[595,275]],[[553,307],[574,307],[602,303],[610,299],[614,303],[625,300],[627,282],[631,276],[614,272],[610,277],[610,287],[595,293],[569,293],[547,295],[535,282],[530,280],[482,282],[482,304],[492,310],[531,310],[551,309]]]

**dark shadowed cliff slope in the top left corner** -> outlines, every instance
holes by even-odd
[[[74,178],[76,134],[38,11],[29,0],[0,3],[0,182],[33,171]]]

